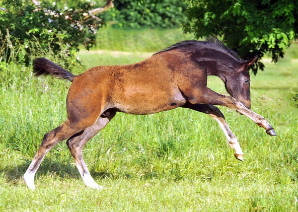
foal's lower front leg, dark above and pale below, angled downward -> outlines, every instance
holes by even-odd
[[[192,110],[196,110],[202,113],[206,113],[209,116],[211,116],[214,120],[216,120],[219,125],[221,126],[222,130],[224,131],[224,135],[228,141],[228,144],[232,149],[235,151],[235,157],[238,160],[243,161],[243,152],[240,147],[240,144],[235,137],[235,135],[232,133],[232,131],[229,129],[228,125],[225,122],[224,114],[214,105],[205,105],[205,104],[186,104],[183,107],[189,108]]]

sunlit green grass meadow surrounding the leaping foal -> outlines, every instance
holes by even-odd
[[[131,64],[191,39],[179,30],[157,31],[156,37],[153,32],[142,31],[149,35],[126,45],[119,44],[118,32],[110,45],[106,40],[105,46],[78,56],[85,69]],[[138,32],[127,34],[122,35],[125,42]],[[170,44],[157,42],[165,34],[177,36],[166,40]],[[152,43],[158,45],[148,47]],[[35,78],[30,67],[1,67],[0,211],[297,211],[298,108],[289,97],[298,89],[296,48],[277,65],[265,58],[265,71],[251,75],[252,110],[272,124],[277,137],[219,107],[240,142],[244,162],[234,158],[221,128],[206,114],[183,108],[146,116],[117,113],[83,149],[101,191],[84,186],[65,141],[41,164],[36,190],[25,186],[22,175],[44,134],[67,117],[71,82]],[[226,94],[217,77],[210,76],[208,86]]]

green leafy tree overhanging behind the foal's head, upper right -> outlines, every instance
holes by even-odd
[[[298,37],[298,1],[296,0],[187,0],[189,22],[186,32],[197,38],[219,35],[239,56],[259,59],[266,52],[274,62]],[[254,73],[264,70],[258,59]]]

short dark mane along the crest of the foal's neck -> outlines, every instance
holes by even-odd
[[[160,50],[153,55],[157,55],[162,52],[167,52],[171,51],[174,49],[179,49],[179,50],[194,50],[198,48],[209,48],[209,49],[214,49],[216,51],[222,52],[236,61],[243,62],[238,54],[232,50],[230,50],[227,46],[224,45],[222,41],[220,41],[218,38],[214,37],[209,37],[206,41],[197,41],[197,40],[186,40],[186,41],[181,41],[179,43],[173,44],[163,50]]]

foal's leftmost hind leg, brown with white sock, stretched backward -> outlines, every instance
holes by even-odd
[[[34,159],[23,176],[25,183],[30,189],[35,189],[34,176],[47,152],[60,141],[66,140],[84,128],[83,126],[77,126],[72,124],[69,120],[66,120],[62,125],[45,134]]]

